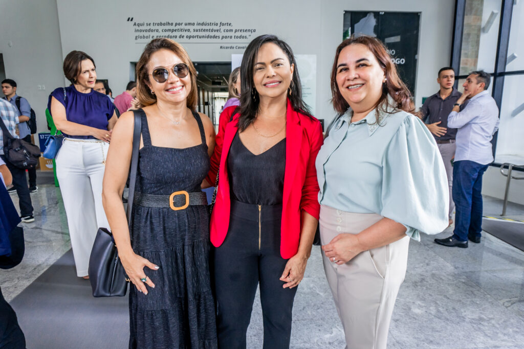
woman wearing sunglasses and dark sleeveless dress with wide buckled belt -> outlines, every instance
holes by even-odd
[[[154,39],[137,65],[143,109],[129,225],[122,192],[134,115],[122,114],[107,155],[103,201],[129,292],[130,348],[216,348],[209,213],[200,185],[214,147],[211,120],[195,111],[196,71],[180,44]]]

